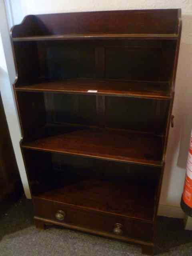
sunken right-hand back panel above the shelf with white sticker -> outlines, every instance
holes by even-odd
[[[108,47],[105,51],[106,78],[160,80],[161,48]]]

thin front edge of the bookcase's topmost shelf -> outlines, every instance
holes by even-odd
[[[42,41],[42,40],[90,40],[90,39],[172,39],[177,40],[178,34],[63,34],[13,37],[14,42],[19,41]]]

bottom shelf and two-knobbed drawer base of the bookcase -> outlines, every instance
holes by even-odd
[[[53,178],[33,196],[36,226],[60,225],[152,250],[156,189],[128,180]]]

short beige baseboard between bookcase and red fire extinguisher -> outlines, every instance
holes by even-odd
[[[185,217],[184,212],[180,207],[160,204],[158,208],[159,216],[166,216],[170,218],[181,218]]]

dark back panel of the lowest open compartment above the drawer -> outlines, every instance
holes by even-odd
[[[154,180],[154,184],[156,184],[160,174],[160,168],[158,167],[65,156],[57,153],[52,153],[52,166],[54,170],[60,170],[61,172],[68,169],[71,173],[82,178],[138,180],[140,184],[146,184],[150,180]]]

